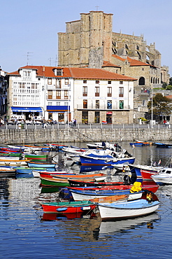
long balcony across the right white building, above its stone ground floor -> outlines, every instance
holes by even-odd
[[[95,106],[93,104],[87,104],[87,106],[83,106],[82,104],[77,105],[77,110],[96,110],[96,111],[101,111],[101,110],[108,110],[108,111],[120,111],[120,110],[130,110],[129,105],[124,105],[123,109],[120,109],[120,106],[112,106],[111,108],[108,108],[107,105],[100,105],[100,106]]]

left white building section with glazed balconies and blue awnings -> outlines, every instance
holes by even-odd
[[[51,66],[23,66],[8,73],[8,118],[64,122],[71,114],[69,69]]]

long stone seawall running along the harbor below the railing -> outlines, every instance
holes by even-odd
[[[172,141],[169,128],[159,129],[41,129],[0,130],[1,144],[38,144],[91,141]]]

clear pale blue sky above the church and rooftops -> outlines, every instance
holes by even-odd
[[[113,13],[114,32],[143,34],[148,45],[155,42],[172,76],[171,0],[1,0],[1,69],[12,72],[27,62],[55,66],[57,33],[90,10]]]

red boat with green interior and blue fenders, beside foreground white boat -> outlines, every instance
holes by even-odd
[[[41,204],[44,213],[82,213],[83,211],[92,211],[96,204],[87,201],[81,202],[44,202]]]

